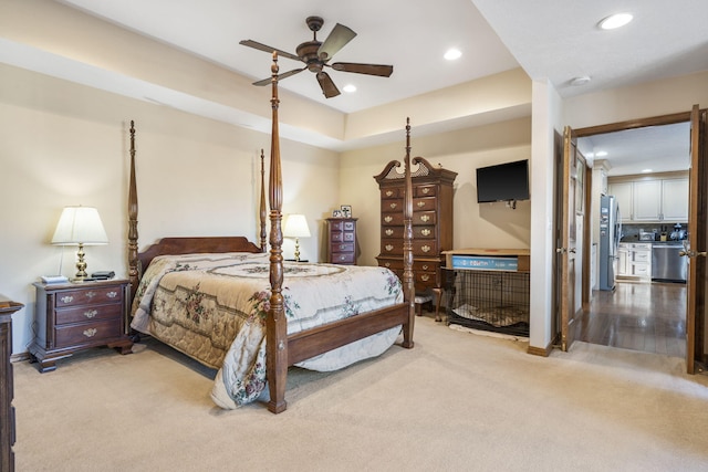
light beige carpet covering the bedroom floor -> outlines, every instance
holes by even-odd
[[[17,470],[708,470],[708,377],[681,359],[583,343],[542,358],[416,322],[414,349],[291,370],[278,416],[214,407],[214,371],[155,342],[15,364]]]

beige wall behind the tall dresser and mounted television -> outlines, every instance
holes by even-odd
[[[395,145],[357,149],[342,154],[340,196],[351,203],[358,220],[360,264],[376,264],[381,244],[381,200],[374,176],[391,160],[405,156],[405,122]],[[531,119],[521,118],[476,128],[416,137],[410,132],[412,157],[421,156],[431,165],[458,172],[455,180],[455,248],[523,248],[530,244],[530,202],[517,209],[504,203],[477,203],[478,167],[531,157]],[[533,198],[533,196],[532,196]]]

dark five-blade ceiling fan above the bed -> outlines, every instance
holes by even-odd
[[[301,69],[294,69],[289,72],[283,72],[278,76],[279,80],[288,78],[292,75],[295,75],[305,69],[310,72],[314,72],[317,77],[317,82],[320,83],[320,87],[322,88],[322,93],[327,98],[332,98],[340,94],[339,88],[334,85],[332,77],[324,72],[324,67],[332,67],[335,71],[342,72],[354,72],[357,74],[367,74],[367,75],[378,75],[381,77],[388,77],[394,72],[393,65],[379,65],[379,64],[357,64],[353,62],[335,62],[333,64],[327,64],[327,62],[332,59],[337,51],[344,48],[350,41],[356,36],[356,33],[348,29],[347,27],[336,23],[330,35],[324,42],[317,41],[317,31],[322,28],[324,20],[320,17],[308,17],[305,20],[308,28],[313,33],[312,41],[306,41],[300,44],[296,49],[295,54],[291,54],[285,51],[281,51],[277,48],[271,48],[266,44],[261,44],[257,41],[252,40],[243,40],[240,41],[239,44],[243,44],[244,46],[254,48],[257,50],[266,51],[272,53],[273,51],[278,52],[278,55],[281,57],[292,59],[294,61],[304,62],[305,66]],[[271,78],[264,78],[262,81],[253,82],[253,85],[268,85],[271,83]]]

